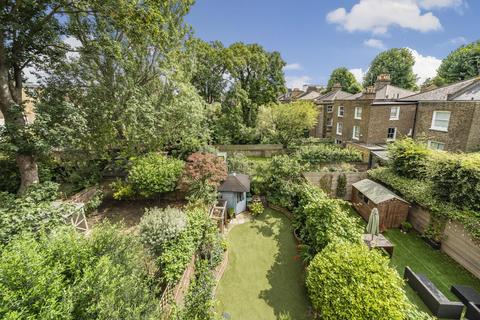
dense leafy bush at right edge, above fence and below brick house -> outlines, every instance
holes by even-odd
[[[459,208],[480,211],[480,153],[437,153],[431,179],[433,191]]]

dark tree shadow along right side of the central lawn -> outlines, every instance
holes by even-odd
[[[271,219],[271,215],[279,215],[280,219]],[[269,211],[251,227],[265,237],[273,237],[278,244],[275,262],[267,272],[270,288],[261,291],[259,298],[273,308],[277,318],[289,315],[290,319],[311,319],[303,266],[297,256],[290,221],[280,213]]]

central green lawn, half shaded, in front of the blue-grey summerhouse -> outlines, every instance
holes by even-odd
[[[220,315],[233,320],[310,319],[303,266],[290,221],[267,209],[228,235],[228,267],[217,288]]]

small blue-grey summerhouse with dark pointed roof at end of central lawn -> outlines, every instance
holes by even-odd
[[[227,201],[227,208],[235,214],[247,210],[247,192],[250,192],[250,177],[245,174],[232,173],[218,188],[222,200]]]

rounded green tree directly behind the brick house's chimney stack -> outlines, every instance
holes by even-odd
[[[375,84],[381,74],[390,74],[391,83],[404,89],[416,90],[416,76],[413,73],[415,59],[407,48],[394,48],[378,54],[373,59],[363,82],[364,87]]]

